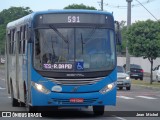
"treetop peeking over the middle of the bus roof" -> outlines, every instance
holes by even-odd
[[[64,9],[88,9],[88,10],[97,10],[95,7],[85,6],[83,4],[72,4],[68,5]]]

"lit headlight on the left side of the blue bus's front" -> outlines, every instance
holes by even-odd
[[[45,94],[49,94],[51,91],[46,89],[43,85],[32,82],[32,86],[38,90],[39,92],[45,93]]]

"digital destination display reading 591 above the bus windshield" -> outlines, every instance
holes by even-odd
[[[113,21],[111,15],[105,14],[44,14],[38,16],[39,24],[56,24],[56,23],[90,23],[90,24],[106,24],[109,21]]]

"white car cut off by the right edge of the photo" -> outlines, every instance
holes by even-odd
[[[160,82],[160,65],[153,69],[153,80]]]

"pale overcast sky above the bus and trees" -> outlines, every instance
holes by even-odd
[[[160,0],[138,0],[144,7],[154,15],[154,17],[160,20]],[[149,1],[148,3],[146,3]],[[0,0],[0,12],[3,9],[8,9],[11,6],[14,7],[30,7],[33,11],[43,11],[49,9],[63,9],[71,4],[84,4],[86,6],[93,6],[100,10],[101,0]],[[126,0],[103,0],[104,11],[113,12],[114,18],[117,21],[127,21],[127,2]],[[132,1],[132,5],[139,4],[136,0]],[[118,7],[119,6],[119,7]],[[131,22],[145,21],[156,19],[147,12],[141,5],[132,7],[131,9]]]

